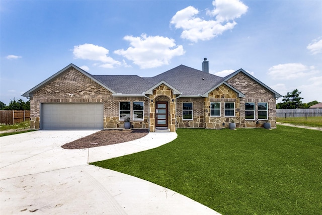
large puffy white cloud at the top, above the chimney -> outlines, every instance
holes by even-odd
[[[183,29],[181,38],[198,42],[198,40],[210,40],[232,29],[237,24],[234,19],[248,10],[248,7],[239,0],[215,0],[212,4],[215,8],[212,11],[208,10],[207,15],[215,16],[215,20],[207,21],[196,17],[199,14],[198,9],[189,6],[178,11],[170,23],[177,29]]]

